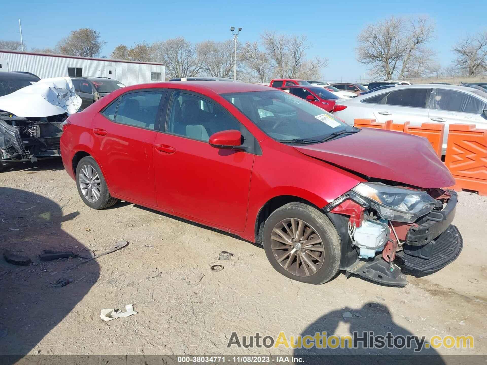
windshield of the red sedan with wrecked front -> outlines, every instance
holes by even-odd
[[[282,91],[222,94],[257,127],[275,140],[322,140],[352,128],[321,108]],[[291,142],[292,143],[292,142]]]

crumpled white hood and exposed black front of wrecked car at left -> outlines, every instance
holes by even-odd
[[[81,106],[69,77],[46,78],[0,97],[0,171],[60,156],[62,124]]]

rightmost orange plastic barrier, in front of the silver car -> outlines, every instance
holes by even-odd
[[[487,129],[451,124],[445,164],[455,178],[453,189],[487,196]]]

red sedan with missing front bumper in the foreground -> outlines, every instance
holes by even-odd
[[[89,207],[131,201],[230,232],[295,280],[345,270],[406,285],[396,257],[430,272],[462,249],[456,194],[443,189],[454,180],[426,139],[349,127],[267,86],[130,86],[63,131],[63,164]]]

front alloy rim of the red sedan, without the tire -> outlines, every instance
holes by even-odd
[[[277,262],[294,275],[313,275],[323,265],[323,241],[315,228],[302,219],[283,219],[276,224],[271,248]]]

